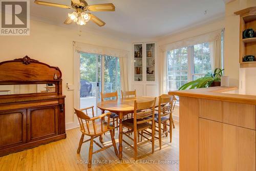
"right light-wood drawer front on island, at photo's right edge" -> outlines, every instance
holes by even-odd
[[[223,122],[255,130],[255,105],[223,102]]]

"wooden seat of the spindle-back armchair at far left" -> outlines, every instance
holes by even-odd
[[[86,127],[86,125],[84,125],[84,127]],[[115,129],[115,127],[112,124],[110,124],[110,126],[108,127],[108,122],[102,121],[102,130],[101,130],[101,120],[100,119],[95,120],[95,128],[96,128],[95,133],[93,130],[92,122],[89,124],[89,128],[90,128],[90,133],[83,132],[83,134],[88,135],[88,136],[97,136],[97,135],[100,135],[100,134],[103,134],[105,132]]]

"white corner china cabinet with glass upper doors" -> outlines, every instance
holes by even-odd
[[[133,44],[134,89],[138,96],[157,96],[156,43]]]

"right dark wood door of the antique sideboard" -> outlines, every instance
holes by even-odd
[[[28,109],[28,141],[58,135],[58,105]]]

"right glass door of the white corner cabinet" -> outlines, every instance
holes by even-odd
[[[155,81],[155,44],[146,44],[146,81]]]

